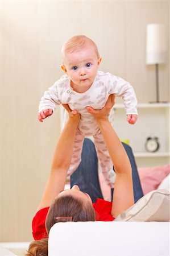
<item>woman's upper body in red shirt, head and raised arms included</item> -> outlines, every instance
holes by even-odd
[[[107,118],[113,105],[114,96],[111,95],[103,109],[94,110],[90,107],[87,109],[96,118],[117,174],[114,184],[114,203],[97,200],[96,204],[93,204],[90,196],[81,192],[77,185],[72,189],[64,190],[74,137],[80,120],[76,110],[71,112],[68,106],[65,106],[69,120],[56,144],[49,179],[38,212],[32,221],[33,236],[35,240],[39,240],[30,244],[27,255],[48,255],[48,233],[56,222],[113,221],[119,213],[134,204],[130,160]],[[44,230],[44,222],[46,230]]]

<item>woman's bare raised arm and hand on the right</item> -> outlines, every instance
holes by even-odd
[[[114,105],[114,96],[109,96],[102,110],[94,110],[87,107],[93,114],[101,129],[111,160],[114,164],[116,178],[114,184],[113,205],[111,214],[117,217],[119,213],[134,204],[131,164],[121,141],[110,125],[107,115]]]

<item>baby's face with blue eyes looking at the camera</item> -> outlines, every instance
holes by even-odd
[[[86,92],[93,84],[97,69],[101,62],[93,46],[85,46],[81,50],[67,52],[61,68],[71,78],[71,86],[76,92]]]

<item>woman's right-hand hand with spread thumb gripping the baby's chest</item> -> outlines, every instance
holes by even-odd
[[[109,115],[110,109],[113,108],[115,104],[114,99],[114,94],[111,94],[107,99],[105,106],[102,109],[95,110],[92,107],[86,107],[86,109],[90,114],[92,114],[96,118],[97,121],[106,120]]]

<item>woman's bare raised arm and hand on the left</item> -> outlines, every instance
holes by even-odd
[[[58,193],[64,190],[68,168],[71,163],[74,137],[80,114],[76,110],[71,112],[68,106],[64,106],[64,108],[69,112],[69,119],[56,143],[49,179],[38,210],[49,207]]]

